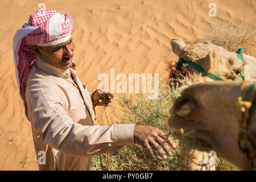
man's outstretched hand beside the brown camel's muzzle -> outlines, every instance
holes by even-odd
[[[152,147],[156,148],[164,159],[167,158],[164,151],[166,151],[168,155],[171,155],[171,150],[168,144],[170,144],[171,147],[176,148],[174,141],[170,137],[167,138],[163,131],[160,131],[156,127],[144,125],[134,126],[134,142],[145,147],[153,159],[156,159],[156,157]]]

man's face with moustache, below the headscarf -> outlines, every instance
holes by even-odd
[[[51,64],[53,67],[68,69],[72,66],[74,51],[72,38],[56,46],[32,46],[32,50],[36,53],[36,56],[46,61],[46,63]]]

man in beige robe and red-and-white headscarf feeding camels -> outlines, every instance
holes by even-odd
[[[94,124],[93,106],[108,106],[96,91],[90,97],[76,76],[72,60],[73,19],[55,10],[30,15],[14,36],[16,78],[26,116],[31,122],[36,154],[46,152],[40,170],[89,170],[91,156],[113,153],[124,145],[140,144],[155,159],[152,146],[166,158],[175,143],[154,127]],[[92,102],[93,101],[93,102]]]

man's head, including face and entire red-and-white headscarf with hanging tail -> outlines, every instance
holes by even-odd
[[[26,85],[32,65],[40,57],[57,68],[71,67],[74,50],[72,30],[71,16],[47,9],[32,13],[28,23],[16,32],[13,40],[16,80],[26,115]]]

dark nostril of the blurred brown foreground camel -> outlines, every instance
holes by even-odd
[[[185,119],[192,119],[196,111],[196,105],[193,101],[185,102],[180,107],[174,109],[175,114]]]

